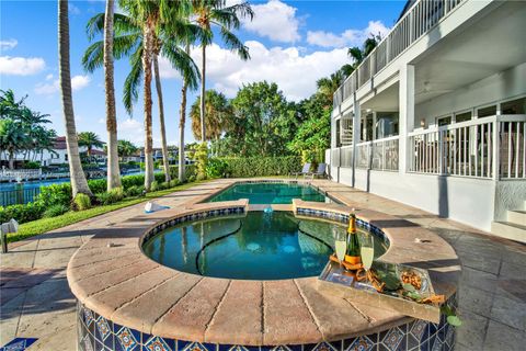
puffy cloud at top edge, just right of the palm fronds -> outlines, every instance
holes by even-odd
[[[275,42],[295,43],[301,38],[298,33],[299,20],[296,18],[296,8],[279,0],[270,0],[267,3],[253,4],[254,19],[243,20],[243,27],[266,36]]]

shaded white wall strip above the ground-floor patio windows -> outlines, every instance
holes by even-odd
[[[526,63],[416,104],[414,123],[420,126],[420,121],[424,118],[426,125],[431,125],[435,124],[435,118],[438,116],[524,95],[526,94],[524,77],[526,77]]]

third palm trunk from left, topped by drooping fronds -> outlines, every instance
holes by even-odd
[[[153,156],[151,135],[151,54],[153,47],[152,21],[144,30],[142,71],[145,72],[145,189],[150,191],[153,182]]]

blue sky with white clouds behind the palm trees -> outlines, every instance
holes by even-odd
[[[229,0],[229,3],[236,0]],[[276,82],[290,101],[300,101],[316,91],[316,81],[351,63],[347,48],[359,46],[371,33],[386,34],[398,19],[405,1],[250,1],[252,22],[243,21],[236,32],[250,49],[251,59],[240,60],[224,48],[220,37],[207,48],[207,89],[233,98],[243,84],[266,80]],[[69,2],[71,83],[78,132],[95,132],[107,139],[103,69],[84,71],[81,57],[90,45],[85,24],[104,12],[105,1]],[[53,128],[64,135],[58,89],[57,1],[0,1],[0,89],[12,89],[16,97],[28,95],[26,104],[50,115]],[[197,65],[198,49],[192,50]],[[115,63],[117,133],[141,146],[144,143],[142,101],[133,115],[122,103],[123,84],[129,72],[127,59]],[[160,58],[164,98],[167,139],[178,145],[181,77],[168,60]],[[152,87],[153,91],[155,88]],[[140,90],[140,95],[142,90]],[[190,105],[198,93],[188,93]],[[160,146],[157,97],[153,95],[153,144]],[[185,138],[194,140],[191,121]]]

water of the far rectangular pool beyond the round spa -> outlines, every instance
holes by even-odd
[[[330,199],[310,185],[296,183],[238,183],[207,202],[248,199],[250,204],[291,204],[293,199],[329,202]]]

